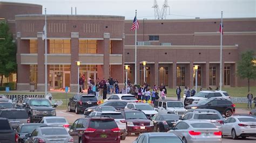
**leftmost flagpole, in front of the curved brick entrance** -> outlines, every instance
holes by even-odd
[[[45,63],[44,63],[44,65],[45,65],[45,97],[46,97],[46,95],[47,95],[47,25],[46,25],[46,8],[44,9],[44,11],[45,11],[45,23],[44,23],[44,25],[45,25],[45,32],[44,32],[44,34],[45,34],[45,44],[44,44],[44,51],[45,51],[45,53],[44,53],[44,59],[45,59]]]

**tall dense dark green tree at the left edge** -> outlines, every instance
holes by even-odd
[[[0,38],[0,76],[2,76],[0,85],[2,86],[3,76],[9,77],[11,73],[17,71],[16,44],[5,22],[0,23]]]

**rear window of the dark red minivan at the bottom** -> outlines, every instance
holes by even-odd
[[[110,129],[116,128],[117,123],[114,120],[91,120],[89,122],[89,127],[96,129]]]

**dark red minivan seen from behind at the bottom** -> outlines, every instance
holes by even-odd
[[[77,119],[69,130],[74,142],[119,143],[120,129],[110,117],[87,116]]]

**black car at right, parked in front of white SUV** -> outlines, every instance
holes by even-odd
[[[187,105],[186,109],[214,109],[226,117],[230,117],[235,112],[235,104],[227,99],[208,98],[199,101],[198,104]]]

